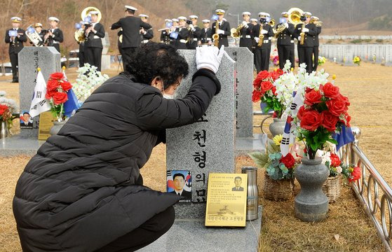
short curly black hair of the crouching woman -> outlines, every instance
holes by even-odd
[[[137,48],[130,57],[126,71],[135,76],[137,82],[151,84],[160,76],[163,88],[177,83],[178,78],[188,75],[188,63],[173,45],[146,43]]]

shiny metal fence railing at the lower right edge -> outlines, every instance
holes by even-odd
[[[339,155],[346,165],[360,167],[362,176],[356,183],[351,184],[351,188],[377,229],[386,251],[392,251],[392,189],[359,148],[359,128],[353,127],[352,130],[356,140],[342,147]]]

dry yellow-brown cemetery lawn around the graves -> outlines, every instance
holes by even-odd
[[[331,75],[337,75],[335,84],[350,99],[351,125],[360,127],[362,131],[360,148],[391,184],[392,174],[388,170],[392,162],[391,69],[370,63],[340,66],[327,62],[323,67]],[[76,78],[75,70],[67,70],[71,82]],[[104,73],[114,76],[116,71]],[[18,101],[18,83],[8,83],[9,78],[0,77],[0,90],[5,90],[9,98]],[[255,110],[259,110],[259,104],[255,104]],[[262,117],[255,117],[255,125],[261,120]],[[13,131],[18,132],[16,123]],[[260,131],[255,129],[255,132]],[[0,251],[21,251],[12,213],[12,198],[15,183],[30,158],[0,158]],[[237,158],[237,172],[248,165],[255,164],[248,157]],[[259,251],[384,251],[372,223],[367,221],[350,188],[344,188],[337,202],[330,204],[327,220],[316,224],[302,223],[294,217],[293,198],[287,202],[271,202],[262,198],[263,172],[259,170],[258,178],[260,204],[264,207]],[[154,148],[141,173],[146,186],[165,190],[165,145]],[[296,183],[295,195],[298,192],[299,184]]]

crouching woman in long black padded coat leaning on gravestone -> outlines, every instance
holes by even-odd
[[[220,90],[223,50],[198,48],[188,64],[171,45],[147,43],[126,72],[97,88],[22,172],[13,212],[23,251],[135,251],[173,224],[181,197],[142,186],[140,168],[167,128],[195,123]]]

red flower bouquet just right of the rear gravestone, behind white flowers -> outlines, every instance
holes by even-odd
[[[259,102],[260,100],[266,104],[264,112],[275,111],[276,117],[281,118],[285,106],[281,99],[278,99],[278,92],[276,86],[273,84],[275,80],[283,75],[283,70],[276,69],[274,71],[260,71],[253,81],[254,90],[252,92],[252,101]]]

